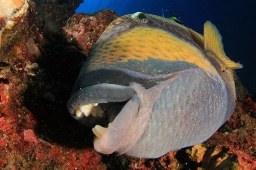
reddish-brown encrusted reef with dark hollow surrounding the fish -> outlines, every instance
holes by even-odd
[[[112,11],[93,20],[74,15],[52,43],[52,34],[34,24],[35,3],[11,1],[0,9],[0,170],[256,169],[256,103],[244,90],[238,91],[233,116],[202,144],[158,159],[96,153],[91,129],[72,119],[66,104],[84,54],[108,24],[99,16],[111,18]],[[89,44],[83,38],[69,41],[80,26]]]

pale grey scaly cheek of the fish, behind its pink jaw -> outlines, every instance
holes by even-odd
[[[159,157],[201,143],[221,126],[227,112],[223,81],[210,79],[201,68],[181,72],[160,92],[143,136],[128,155]]]

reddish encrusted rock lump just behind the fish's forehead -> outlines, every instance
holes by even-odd
[[[108,24],[117,17],[114,11],[107,9],[95,14],[74,14],[63,30],[67,41],[77,45],[87,55]]]

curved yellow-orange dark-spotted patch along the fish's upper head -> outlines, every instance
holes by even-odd
[[[218,74],[204,54],[189,42],[161,29],[145,27],[133,28],[103,44],[93,54],[89,67],[98,68],[103,63],[111,67],[116,62],[147,59],[190,62],[203,68],[207,74]]]

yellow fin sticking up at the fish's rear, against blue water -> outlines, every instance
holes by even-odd
[[[229,59],[223,49],[222,37],[218,29],[210,21],[204,23],[204,49],[211,50],[218,58],[216,61],[220,64],[221,71],[226,69],[237,69],[243,66],[239,62],[233,62]]]

